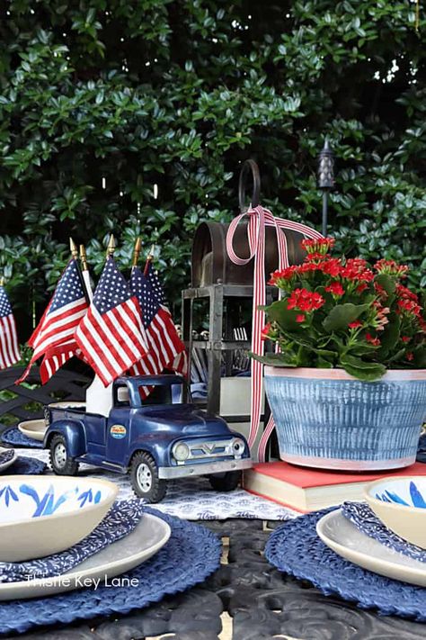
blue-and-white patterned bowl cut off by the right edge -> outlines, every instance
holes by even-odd
[[[364,491],[368,505],[386,527],[426,549],[426,477],[382,478]]]

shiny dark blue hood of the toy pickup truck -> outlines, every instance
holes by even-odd
[[[226,421],[190,404],[144,407],[140,420],[153,429],[186,436],[228,436]]]

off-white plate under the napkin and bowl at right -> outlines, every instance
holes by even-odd
[[[361,533],[342,515],[341,509],[327,513],[318,520],[316,533],[336,554],[363,569],[426,587],[426,563],[388,549]]]

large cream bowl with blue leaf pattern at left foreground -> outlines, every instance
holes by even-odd
[[[96,478],[0,476],[0,561],[55,554],[88,536],[118,486]]]

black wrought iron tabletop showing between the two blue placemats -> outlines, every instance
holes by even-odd
[[[123,616],[94,619],[63,628],[45,627],[22,640],[421,640],[426,627],[396,617],[379,617],[341,599],[325,597],[308,582],[274,569],[262,556],[271,531],[261,520],[200,523],[227,543],[224,562],[200,587]],[[282,523],[269,523],[270,527]],[[227,548],[227,545],[226,547]],[[224,614],[232,631],[224,629]],[[9,636],[10,637],[10,636]]]

